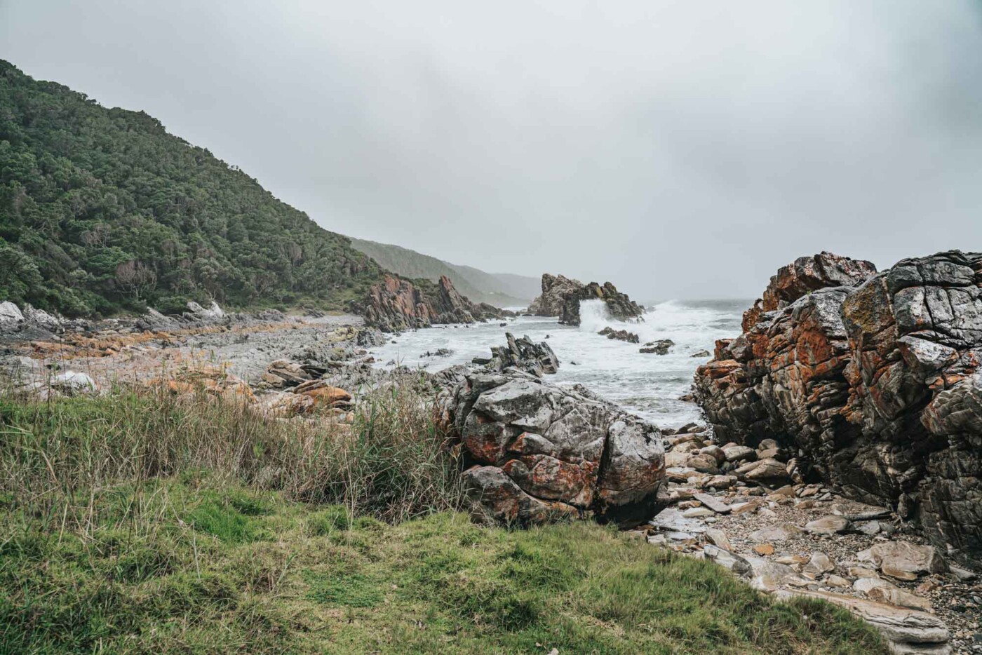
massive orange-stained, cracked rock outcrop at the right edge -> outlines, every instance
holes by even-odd
[[[783,268],[743,334],[697,370],[718,437],[773,438],[806,475],[892,504],[939,544],[982,550],[982,254],[879,274],[813,259]]]

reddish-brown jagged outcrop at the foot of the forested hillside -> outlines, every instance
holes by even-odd
[[[386,275],[361,303],[365,324],[384,332],[429,327],[435,323],[473,323],[500,318],[507,312],[487,303],[467,300],[442,276],[432,288]]]

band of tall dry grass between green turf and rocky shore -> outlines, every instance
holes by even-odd
[[[44,402],[0,393],[0,494],[11,510],[79,528],[99,513],[100,490],[195,470],[389,522],[462,501],[447,437],[407,390],[361,398],[352,425],[154,390]]]

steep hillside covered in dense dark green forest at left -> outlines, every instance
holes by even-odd
[[[209,299],[345,308],[380,273],[144,112],[0,60],[0,300],[68,315]]]

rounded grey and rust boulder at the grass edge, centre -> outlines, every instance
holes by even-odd
[[[519,523],[592,512],[650,519],[665,473],[658,428],[582,389],[470,372],[450,407],[475,513]]]

